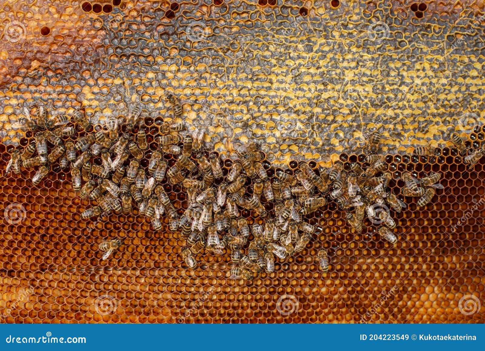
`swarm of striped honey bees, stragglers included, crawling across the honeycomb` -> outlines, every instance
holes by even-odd
[[[178,100],[173,96],[167,100],[180,117],[183,109]],[[32,183],[39,184],[54,163],[70,167],[74,190],[82,199],[95,201],[82,218],[136,210],[150,218],[155,230],[167,223],[186,241],[181,255],[188,267],[197,267],[195,255],[202,251],[223,254],[226,250],[236,265],[230,270],[234,278],[251,280],[263,270],[273,272],[276,260],[303,251],[312,236],[322,232],[307,215],[329,201],[346,212],[355,232],[362,231],[367,216],[380,224],[377,232],[384,239],[397,242],[396,223],[386,204],[396,212],[406,205],[388,191],[392,174],[379,154],[382,136],[377,132],[370,138],[363,164],[338,162],[325,168],[302,161],[293,170],[275,169],[255,143],[247,143],[235,150],[236,157],[223,171],[219,155],[202,150],[203,131],[189,133],[181,122],[164,122],[159,134],[148,138],[138,126],[141,110],[137,107],[128,118],[121,122],[115,118],[104,126],[92,125],[81,111],[72,118],[48,117],[40,106],[36,117],[26,115],[18,123],[33,133],[35,141],[21,152],[12,152],[7,172],[37,166]],[[466,152],[459,137],[452,141]],[[430,149],[417,148],[415,153],[431,155]],[[477,162],[483,154],[479,150],[464,160]],[[405,172],[402,195],[419,196],[417,204],[424,206],[435,189],[442,188],[440,176],[432,173],[416,179]],[[184,190],[185,209],[172,203],[173,186]],[[101,243],[103,259],[121,245],[119,239]],[[318,261],[323,272],[328,271],[330,258],[324,249],[318,251]]]

